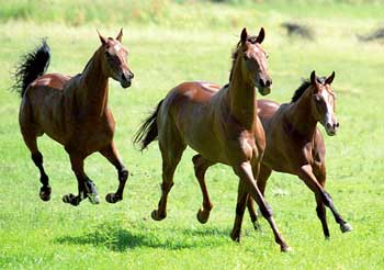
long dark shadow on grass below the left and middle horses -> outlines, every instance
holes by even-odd
[[[135,248],[194,249],[229,243],[229,232],[218,228],[147,228],[143,224],[128,229],[120,224],[102,224],[80,236],[63,236],[57,244],[103,246],[114,251]]]

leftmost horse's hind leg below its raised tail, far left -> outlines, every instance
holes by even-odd
[[[43,155],[37,148],[37,133],[33,131],[32,127],[26,127],[26,125],[21,122],[21,132],[25,142],[25,145],[31,151],[31,158],[39,171],[39,181],[43,187],[39,189],[39,198],[47,202],[50,200],[52,188],[49,185],[49,178],[45,173],[43,166]]]

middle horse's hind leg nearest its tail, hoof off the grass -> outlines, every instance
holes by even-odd
[[[162,183],[158,209],[151,213],[151,217],[155,221],[161,221],[167,217],[168,193],[173,187],[176,167],[187,147],[177,132],[169,133],[167,136],[160,136],[159,146],[162,157]]]

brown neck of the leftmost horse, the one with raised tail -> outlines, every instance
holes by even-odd
[[[88,114],[102,115],[108,105],[108,79],[102,68],[100,49],[89,60],[81,74],[81,82],[77,92],[81,110]]]

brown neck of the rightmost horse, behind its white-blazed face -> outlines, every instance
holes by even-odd
[[[302,97],[295,101],[286,112],[286,119],[294,128],[303,136],[315,136],[317,120],[312,110],[312,91],[306,89]]]

